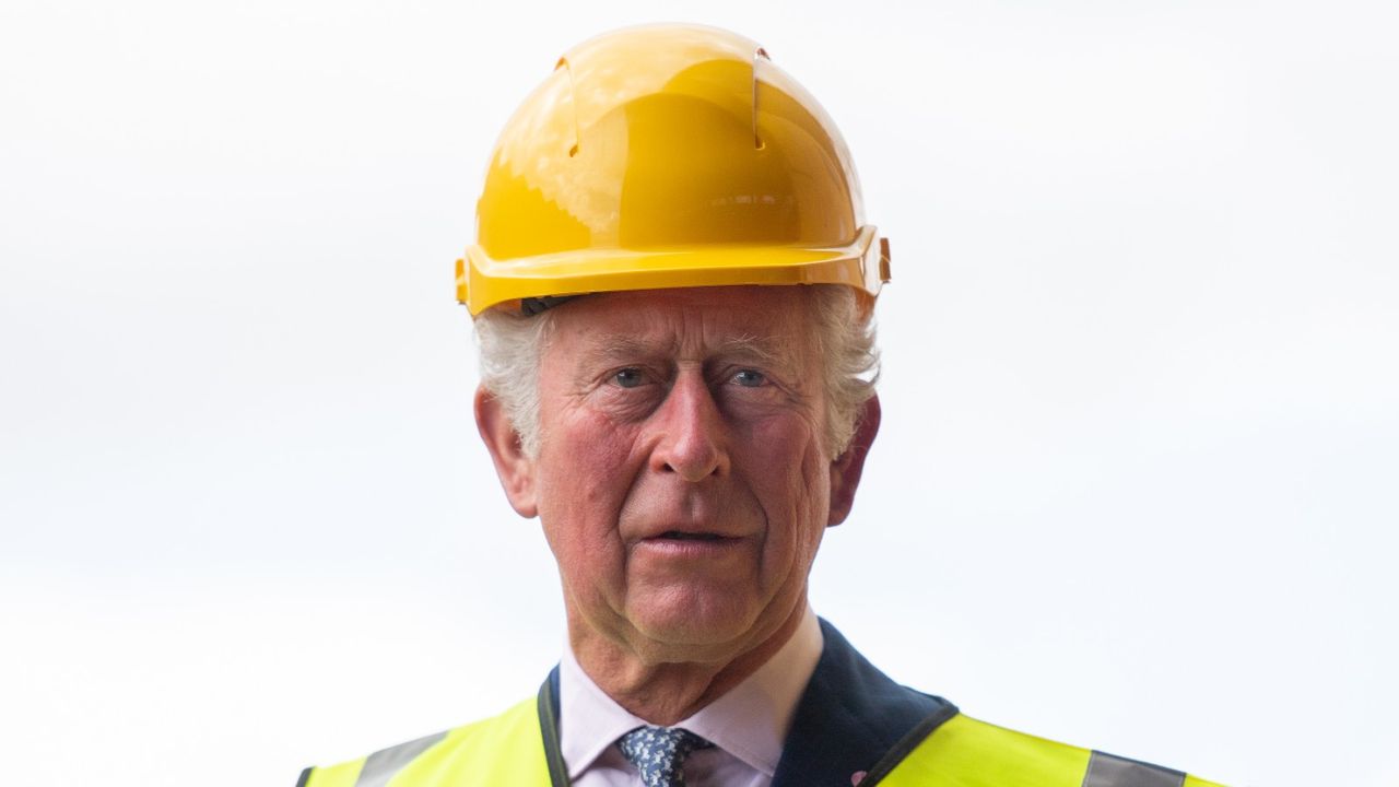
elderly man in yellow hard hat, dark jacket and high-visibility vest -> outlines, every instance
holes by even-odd
[[[974,721],[809,608],[880,426],[890,258],[835,125],[762,49],[583,43],[477,217],[477,423],[558,562],[569,648],[536,699],[302,786],[1207,784]]]

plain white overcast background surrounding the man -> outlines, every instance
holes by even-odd
[[[6,0],[3,780],[290,787],[534,690],[452,262],[554,60],[686,20],[894,242],[816,608],[981,718],[1399,784],[1391,7]]]

